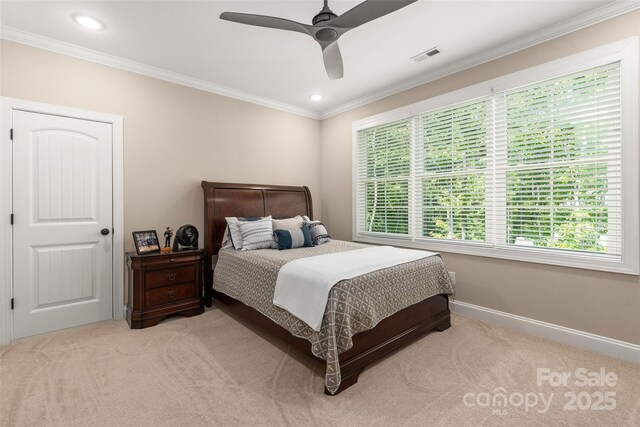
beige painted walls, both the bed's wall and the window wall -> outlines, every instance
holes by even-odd
[[[308,185],[316,216],[348,240],[353,121],[639,33],[636,11],[322,123],[7,41],[0,94],[124,117],[127,250],[132,230],[191,223],[202,231],[203,179]],[[305,158],[322,162],[288,161]],[[460,301],[640,344],[637,276],[444,258]]]

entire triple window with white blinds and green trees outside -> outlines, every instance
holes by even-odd
[[[354,123],[354,240],[637,274],[631,45]]]

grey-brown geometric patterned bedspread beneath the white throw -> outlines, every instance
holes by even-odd
[[[320,246],[284,251],[223,249],[214,270],[213,287],[310,341],[313,354],[327,361],[325,384],[329,392],[335,393],[340,386],[338,355],[352,347],[355,334],[372,329],[384,318],[424,299],[454,293],[444,262],[433,256],[338,282],[329,293],[320,332],[273,305],[278,270],[287,262],[365,246],[332,240]]]

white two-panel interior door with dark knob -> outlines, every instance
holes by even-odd
[[[12,122],[13,338],[111,319],[112,125]]]

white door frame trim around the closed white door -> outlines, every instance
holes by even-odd
[[[113,155],[113,319],[124,317],[124,139],[122,116],[45,104],[25,99],[0,97],[0,345],[13,338],[13,141],[10,138],[14,111],[62,116],[108,123],[112,128]]]

